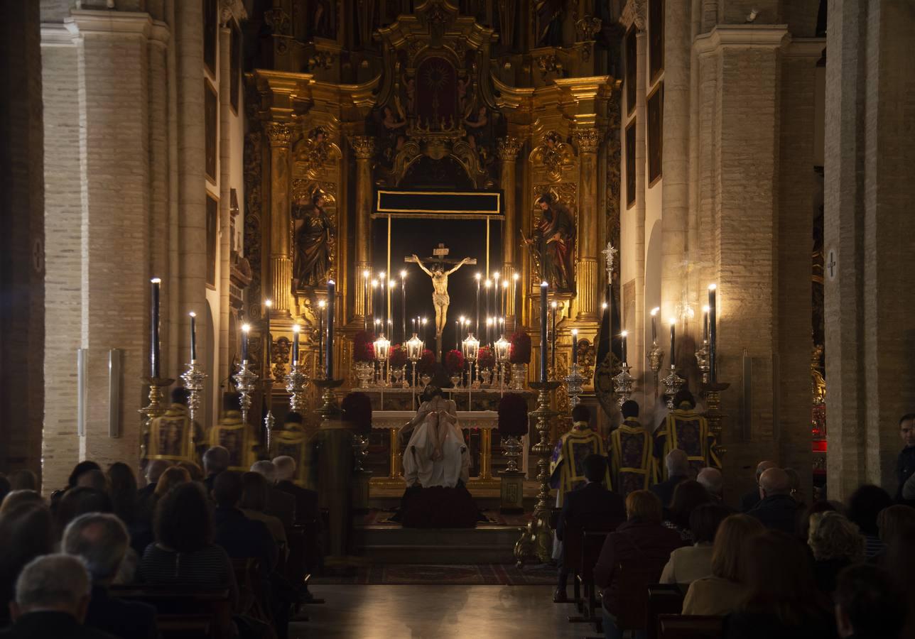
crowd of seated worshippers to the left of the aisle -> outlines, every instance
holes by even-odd
[[[250,472],[207,449],[203,468],[77,464],[44,498],[0,477],[0,637],[285,639],[320,563],[317,495],[280,456]]]

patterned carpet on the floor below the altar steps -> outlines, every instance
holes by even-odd
[[[350,575],[314,577],[315,585],[464,585],[464,586],[533,586],[556,582],[556,569],[532,566],[521,570],[514,564],[371,564],[361,566]]]

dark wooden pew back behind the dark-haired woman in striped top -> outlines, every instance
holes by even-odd
[[[231,639],[229,590],[198,586],[113,586],[112,597],[145,602],[156,608],[163,639]]]

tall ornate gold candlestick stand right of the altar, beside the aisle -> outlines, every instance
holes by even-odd
[[[533,517],[527,526],[522,528],[521,538],[515,543],[514,557],[519,568],[525,560],[537,559],[547,563],[553,554],[553,529],[550,527],[550,421],[558,413],[550,408],[551,395],[559,388],[558,381],[531,382],[529,386],[537,391],[537,410],[530,415],[537,421],[537,432],[540,441],[534,444],[532,453],[537,455],[537,481],[540,492],[537,493],[537,504],[533,508]]]

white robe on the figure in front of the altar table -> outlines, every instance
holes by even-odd
[[[443,415],[440,421],[436,408],[447,411],[447,415]],[[419,484],[424,488],[454,488],[458,485],[458,479],[467,484],[470,455],[458,428],[458,408],[455,402],[451,399],[425,401],[410,423],[415,426],[404,451],[406,484]],[[436,442],[441,445],[437,455]]]

